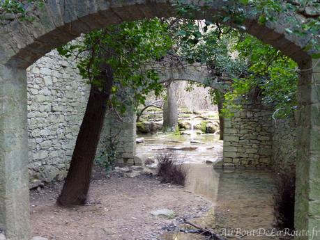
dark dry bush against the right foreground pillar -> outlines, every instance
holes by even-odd
[[[275,225],[283,230],[294,230],[294,200],[296,190],[296,173],[289,170],[277,176],[277,188],[273,194]]]

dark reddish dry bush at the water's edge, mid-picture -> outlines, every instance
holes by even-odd
[[[185,186],[185,179],[188,176],[188,168],[183,164],[175,164],[176,154],[173,152],[160,153],[158,176],[162,183],[171,183]]]

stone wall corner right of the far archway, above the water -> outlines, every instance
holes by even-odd
[[[274,109],[246,104],[225,120],[223,160],[215,168],[294,170],[297,159],[296,118],[273,120]]]

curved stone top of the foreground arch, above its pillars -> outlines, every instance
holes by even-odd
[[[204,3],[195,2],[204,6]],[[210,19],[215,13],[222,13],[227,1],[218,0],[209,4],[209,10],[201,19]],[[172,17],[174,8],[169,0],[135,1],[68,1],[49,0],[44,8],[33,14],[33,22],[8,22],[1,27],[0,63],[13,67],[28,67],[50,50],[66,44],[93,29],[109,24],[119,24],[146,17]],[[303,51],[305,41],[285,33],[286,22],[258,24],[257,19],[245,20],[247,33],[280,49],[298,63],[308,61],[309,55]]]

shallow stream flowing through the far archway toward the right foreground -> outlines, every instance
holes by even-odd
[[[172,149],[177,160],[189,168],[185,191],[212,202],[211,209],[192,223],[219,233],[226,239],[281,239],[271,236],[273,227],[273,197],[275,183],[264,170],[221,170],[213,163],[222,158],[223,141],[215,134],[156,134],[139,136],[137,156],[155,157]],[[181,225],[181,228],[185,226]],[[255,232],[252,232],[255,231]],[[198,234],[167,232],[163,240],[206,239]]]

